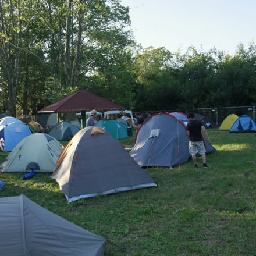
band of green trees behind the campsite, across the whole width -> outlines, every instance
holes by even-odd
[[[0,109],[35,114],[78,89],[136,111],[256,104],[256,45],[234,56],[139,48],[120,0],[0,1]]]

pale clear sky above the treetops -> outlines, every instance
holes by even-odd
[[[215,47],[234,55],[256,41],[256,0],[121,0],[129,6],[135,40],[182,53]]]

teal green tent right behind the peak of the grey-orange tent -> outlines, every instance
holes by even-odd
[[[102,119],[99,120],[95,126],[106,130],[106,132],[111,134],[116,140],[122,140],[128,137],[127,125],[125,123],[116,120]]]

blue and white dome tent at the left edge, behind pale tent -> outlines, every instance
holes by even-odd
[[[30,134],[32,134],[30,127],[24,123],[0,126],[0,150],[12,151],[23,138]]]

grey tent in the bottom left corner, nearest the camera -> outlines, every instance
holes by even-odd
[[[103,256],[105,239],[35,204],[25,195],[0,198],[5,256]]]

